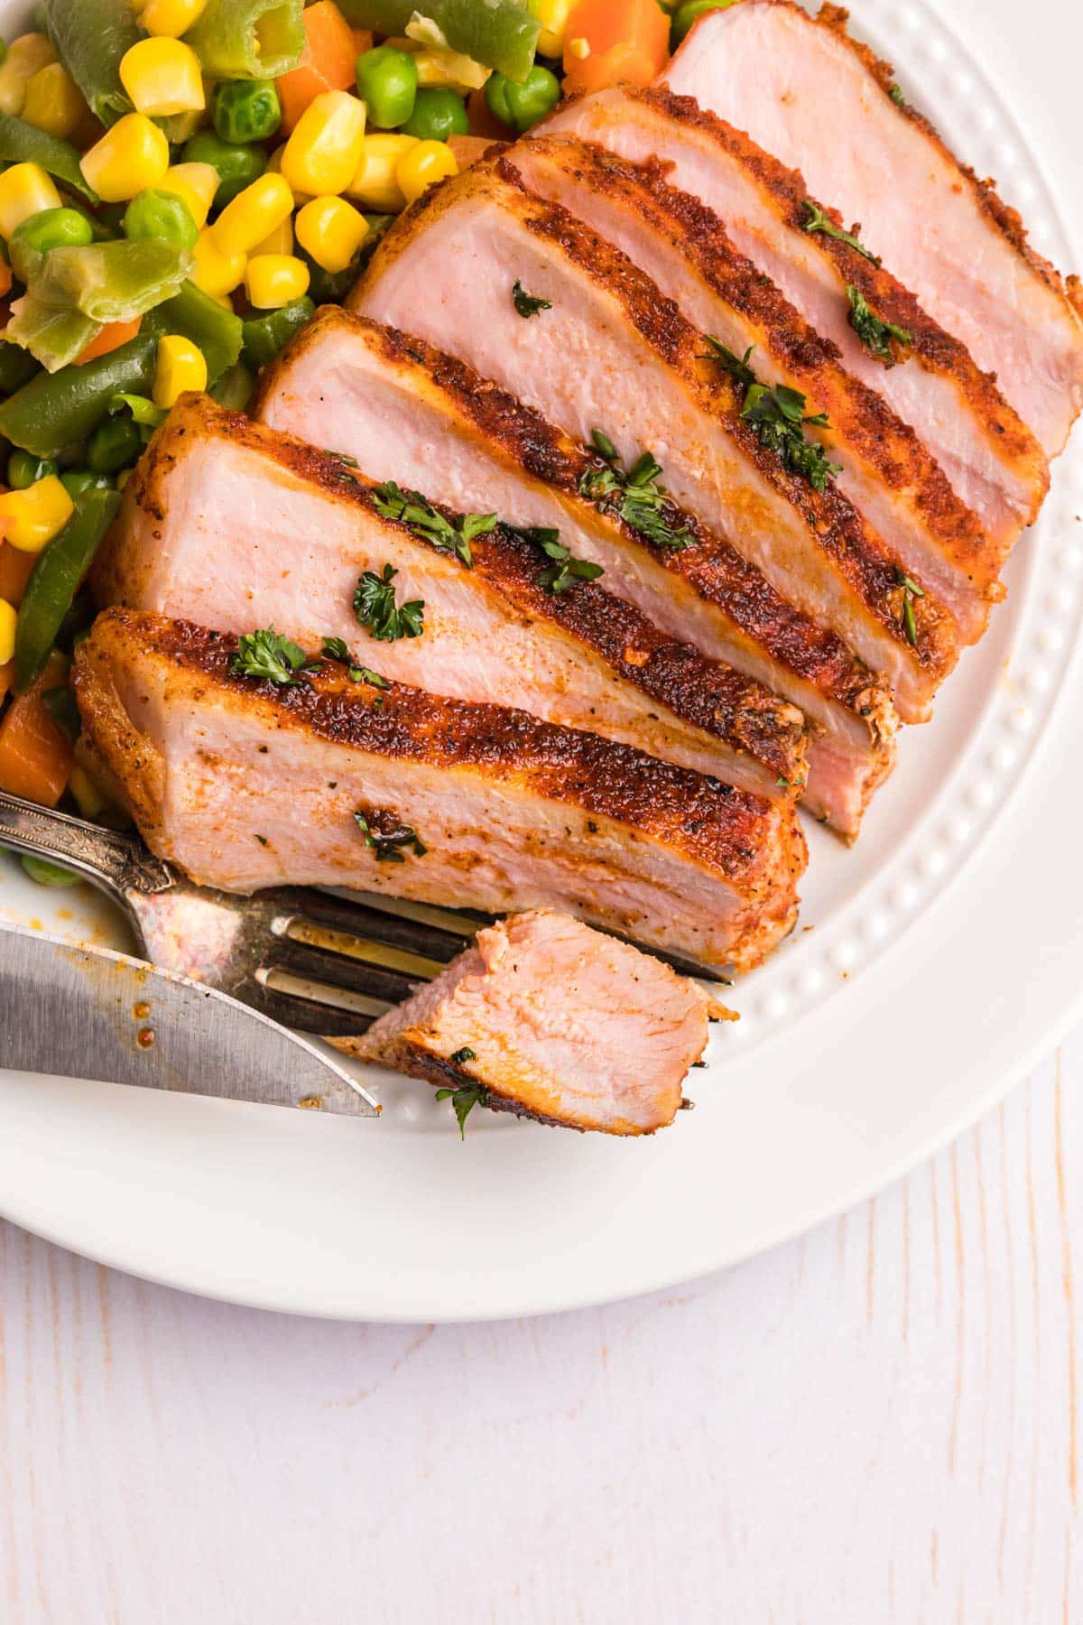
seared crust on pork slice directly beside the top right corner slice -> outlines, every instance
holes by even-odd
[[[755,3],[766,3],[766,0],[755,0]],[[778,0],[778,3],[789,3],[789,0]],[[718,141],[719,146],[755,176],[762,192],[771,197],[778,218],[791,231],[797,231],[805,240],[812,240],[820,254],[833,262],[841,283],[839,297],[846,296],[846,283],[852,283],[885,322],[906,328],[911,335],[911,344],[906,346],[908,356],[913,356],[930,372],[940,372],[955,380],[971,403],[976,418],[986,422],[990,432],[995,434],[999,457],[1005,463],[1016,465],[1020,476],[1031,484],[1033,504],[1026,515],[1026,522],[1029,523],[1038,515],[1038,509],[1049,489],[1049,463],[1031,431],[1018,413],[1008,406],[997,388],[995,377],[990,372],[982,372],[969,349],[934,322],[914,294],[903,288],[883,266],[874,265],[864,254],[851,249],[848,242],[839,242],[836,237],[826,237],[823,232],[817,232],[812,239],[809,237],[805,232],[809,219],[805,200],[823,208],[825,214],[836,226],[848,226],[848,223],[843,221],[838,210],[820,205],[817,198],[810,197],[802,176],[796,169],[787,169],[776,158],[771,158],[770,153],[765,153],[762,146],[757,146],[744,132],[736,130],[723,119],[701,109],[692,96],[675,96],[664,86],[628,89],[627,94],[672,119],[680,119],[693,125],[713,141]]]

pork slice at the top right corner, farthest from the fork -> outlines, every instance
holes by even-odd
[[[893,70],[791,0],[697,23],[662,78],[747,130],[955,333],[1054,457],[1083,406],[1080,284],[1034,254],[1018,213],[891,94]]]

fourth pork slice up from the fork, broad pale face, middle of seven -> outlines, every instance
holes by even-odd
[[[440,265],[440,297],[432,266]],[[524,320],[513,289],[549,301]],[[604,432],[623,468],[649,450],[682,507],[831,627],[924,722],[958,655],[930,593],[835,484],[817,491],[740,416],[744,387],[701,359],[703,336],[654,283],[508,159],[485,159],[403,216],[351,296],[356,309],[451,349],[580,440]]]

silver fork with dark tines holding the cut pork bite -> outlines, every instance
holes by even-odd
[[[93,881],[127,915],[143,959],[229,993],[299,1032],[347,1038],[429,982],[492,915],[372,892],[278,886],[253,897],[193,886],[140,835],[0,791],[0,845]],[[648,952],[658,954],[656,949]],[[679,956],[687,975],[724,982]]]

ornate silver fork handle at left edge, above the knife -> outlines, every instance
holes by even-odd
[[[88,824],[67,812],[39,808],[0,790],[0,845],[55,858],[123,902],[128,892],[145,897],[172,889],[174,876],[138,835]]]

